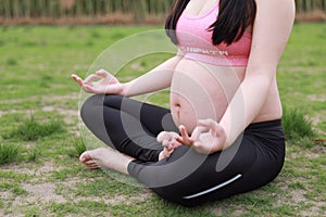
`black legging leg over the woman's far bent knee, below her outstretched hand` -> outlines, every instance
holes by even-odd
[[[83,104],[85,125],[109,146],[143,162],[163,150],[156,135],[176,131],[170,110],[120,95],[95,94]]]

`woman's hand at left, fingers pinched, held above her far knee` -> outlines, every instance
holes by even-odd
[[[122,95],[124,92],[124,85],[121,84],[116,77],[104,69],[100,69],[96,72],[96,74],[89,75],[85,80],[75,74],[72,75],[72,78],[76,80],[83,90],[89,93],[109,93]]]

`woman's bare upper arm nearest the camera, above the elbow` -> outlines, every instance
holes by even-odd
[[[276,68],[296,16],[294,0],[255,0],[248,67]]]

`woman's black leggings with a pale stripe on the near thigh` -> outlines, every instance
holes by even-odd
[[[279,174],[285,158],[280,119],[249,125],[222,152],[200,154],[181,145],[168,158],[156,136],[176,131],[170,110],[120,95],[96,94],[82,107],[86,126],[103,142],[135,161],[128,173],[160,196],[186,206],[258,189]]]

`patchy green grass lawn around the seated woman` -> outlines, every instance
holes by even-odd
[[[0,216],[326,216],[325,23],[294,25],[279,63],[287,117],[303,116],[314,135],[288,136],[285,167],[266,187],[186,208],[127,177],[78,163],[85,145],[101,144],[80,124],[86,94],[70,75],[84,77],[120,39],[160,28],[0,27]],[[129,80],[167,55],[135,59],[117,76]],[[167,92],[148,100],[164,106]]]

